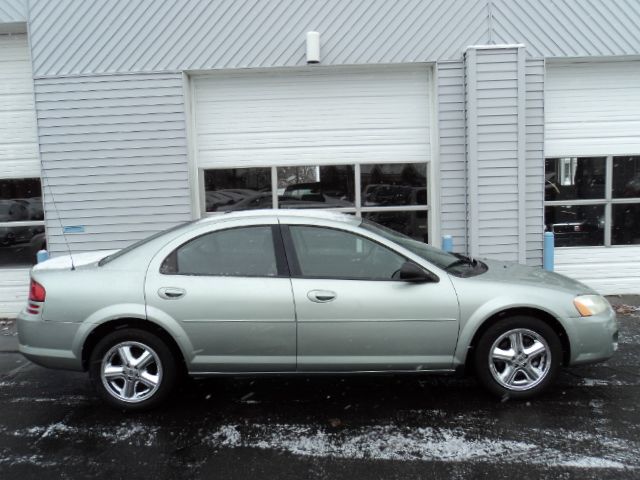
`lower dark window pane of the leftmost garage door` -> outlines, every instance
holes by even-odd
[[[0,227],[0,267],[28,267],[38,250],[46,248],[44,225]]]

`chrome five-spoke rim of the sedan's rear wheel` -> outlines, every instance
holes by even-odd
[[[127,403],[142,402],[160,387],[160,357],[143,343],[118,343],[104,356],[100,378],[107,391],[118,400]]]

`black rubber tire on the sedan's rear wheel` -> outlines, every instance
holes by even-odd
[[[151,360],[144,369],[132,368],[123,361],[116,346],[127,348],[130,358],[138,361],[146,350],[146,357],[151,357]],[[125,370],[126,367],[127,371],[120,375],[122,378],[115,376],[107,380],[102,375],[103,362],[111,365],[112,369]],[[109,405],[120,410],[143,411],[157,407],[169,397],[177,383],[178,362],[166,343],[156,335],[137,328],[125,328],[109,333],[98,342],[91,352],[89,376],[98,395]],[[149,382],[153,384],[153,379],[157,381],[152,387]],[[131,384],[133,390],[127,390],[127,385]],[[117,392],[120,387],[122,397]]]

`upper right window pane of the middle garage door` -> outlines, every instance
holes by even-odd
[[[360,166],[362,206],[426,205],[426,163]]]

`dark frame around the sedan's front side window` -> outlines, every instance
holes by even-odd
[[[286,223],[286,224],[280,224],[280,232],[282,233],[282,239],[284,242],[284,249],[285,249],[285,253],[286,253],[286,257],[287,257],[287,261],[289,263],[289,271],[291,272],[291,278],[292,279],[308,279],[308,280],[347,280],[347,281],[358,281],[358,282],[403,282],[406,283],[404,280],[400,279],[400,278],[360,278],[360,277],[338,277],[338,276],[321,276],[321,275],[304,275],[302,274],[302,270],[300,269],[300,261],[298,260],[298,251],[296,250],[295,244],[293,242],[293,236],[291,235],[291,231],[289,229],[289,227],[308,227],[308,228],[322,228],[325,230],[335,230],[341,233],[346,233],[346,234],[350,234],[353,235],[355,237],[360,237],[363,238],[365,240],[368,240],[369,242],[372,242],[376,245],[378,245],[379,247],[382,247],[396,255],[398,255],[400,258],[402,258],[404,260],[404,262],[410,262],[413,263],[414,265],[416,265],[418,268],[420,268],[421,270],[424,270],[427,273],[430,273],[432,275],[434,275],[435,277],[438,277],[438,275],[434,274],[433,272],[431,272],[430,270],[427,270],[426,268],[424,268],[424,266],[414,262],[413,260],[411,260],[410,258],[408,258],[406,255],[398,252],[397,250],[390,248],[387,245],[382,244],[381,242],[367,237],[366,235],[361,235],[357,232],[351,231],[351,230],[345,230],[343,228],[337,228],[337,227],[330,227],[330,226],[326,226],[326,225],[311,225],[308,223]],[[439,278],[439,277],[438,277]]]

